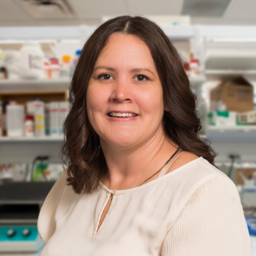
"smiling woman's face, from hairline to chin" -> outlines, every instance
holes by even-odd
[[[163,131],[162,85],[148,46],[135,36],[110,36],[95,63],[86,100],[101,143],[140,147]]]

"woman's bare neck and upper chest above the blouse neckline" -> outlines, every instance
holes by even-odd
[[[109,189],[130,189],[157,172],[177,146],[165,137],[162,130],[137,148],[117,148],[101,140],[108,172],[101,182]],[[151,180],[157,178],[153,177]]]

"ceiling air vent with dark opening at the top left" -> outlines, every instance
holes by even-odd
[[[35,19],[73,19],[75,13],[66,0],[16,0]]]

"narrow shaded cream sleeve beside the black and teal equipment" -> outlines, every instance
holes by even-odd
[[[45,198],[37,221],[37,229],[44,242],[52,236],[55,231],[55,213],[66,186],[66,173],[62,171],[59,179],[53,185],[51,191]]]

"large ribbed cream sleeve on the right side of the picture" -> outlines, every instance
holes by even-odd
[[[162,247],[162,256],[251,256],[237,188],[227,177],[205,181],[189,197]]]

